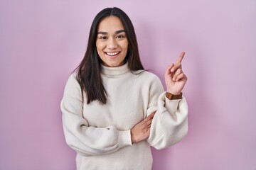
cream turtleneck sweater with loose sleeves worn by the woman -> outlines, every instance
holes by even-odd
[[[169,147],[186,135],[186,99],[169,100],[156,75],[132,74],[127,64],[101,70],[107,104],[87,104],[86,96],[82,103],[75,74],[69,77],[61,101],[65,140],[77,152],[77,169],[149,170],[150,146]],[[132,145],[130,130],[154,111],[149,138]]]

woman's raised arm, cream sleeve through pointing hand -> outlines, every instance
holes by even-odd
[[[156,149],[163,149],[176,144],[188,132],[188,105],[184,96],[180,95],[187,81],[186,74],[183,73],[181,67],[184,54],[182,52],[176,64],[171,64],[166,69],[167,91],[162,92],[160,80],[151,84],[147,115],[157,111],[151,123],[150,135],[147,141]],[[166,97],[167,92],[169,94],[168,98]],[[181,96],[181,98],[169,99],[174,96]]]

